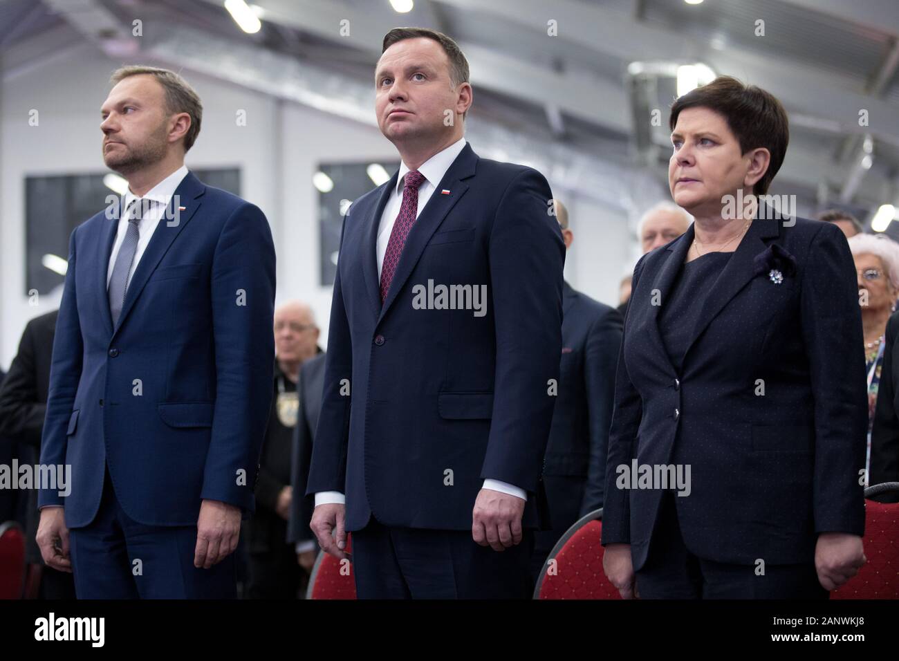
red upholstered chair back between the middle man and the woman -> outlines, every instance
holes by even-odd
[[[576,521],[544,563],[534,599],[620,599],[602,573],[601,533],[601,509]]]

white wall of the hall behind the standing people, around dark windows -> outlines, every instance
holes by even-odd
[[[109,76],[120,65],[85,43],[71,57],[49,60],[0,85],[0,367],[8,368],[31,318],[58,307],[61,288],[29,305],[24,264],[24,178],[27,175],[106,172],[99,108]],[[0,62],[2,67],[2,62]],[[189,167],[239,167],[242,196],[271,222],[278,255],[278,302],[303,299],[316,312],[327,339],[330,287],[319,280],[318,193],[312,174],[321,162],[395,160],[377,128],[343,120],[207,76],[182,72],[203,100],[200,137]],[[29,111],[40,124],[29,126]],[[246,112],[238,126],[236,113]],[[477,149],[476,145],[473,145]],[[552,185],[550,181],[550,185]],[[103,201],[97,202],[101,210]],[[565,275],[577,288],[610,305],[618,281],[633,264],[628,223],[620,211],[575,199],[568,204],[574,246]]]

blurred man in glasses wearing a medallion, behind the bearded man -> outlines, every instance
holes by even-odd
[[[275,310],[275,371],[269,424],[265,430],[256,484],[256,511],[248,521],[250,599],[296,599],[303,567],[287,539],[293,501],[290,465],[298,418],[299,372],[320,353],[318,326],[312,308],[291,300]],[[300,495],[301,496],[301,495]]]

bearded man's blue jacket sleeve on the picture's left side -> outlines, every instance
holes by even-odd
[[[78,319],[76,293],[76,245],[78,228],[72,232],[68,245],[68,268],[59,304],[56,335],[53,337],[53,360],[50,363],[50,385],[47,395],[47,416],[40,442],[40,464],[61,465],[66,462],[67,428],[85,350]],[[38,506],[64,505],[64,497],[54,489],[40,489]]]

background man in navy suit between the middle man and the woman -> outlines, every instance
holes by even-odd
[[[556,200],[555,206],[567,250],[574,232],[568,227],[565,205]],[[562,289],[562,314],[559,394],[543,464],[552,529],[536,534],[531,560],[535,579],[565,531],[602,506],[624,323],[618,310],[575,291],[567,282]]]

